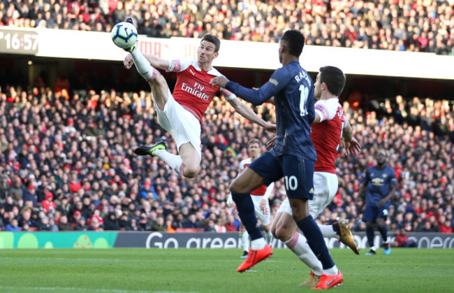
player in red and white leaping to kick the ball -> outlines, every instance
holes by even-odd
[[[129,18],[126,20],[131,22]],[[136,64],[140,75],[147,80],[152,89],[154,106],[159,124],[177,142],[180,155],[166,151],[166,143],[159,141],[154,145],[140,145],[134,152],[137,155],[152,155],[163,159],[177,173],[193,178],[200,169],[200,123],[215,95],[221,93],[237,113],[255,122],[268,131],[274,131],[274,124],[265,122],[251,108],[242,103],[235,94],[221,87],[210,85],[210,80],[221,73],[212,67],[213,60],[219,55],[221,41],[207,34],[200,41],[196,61],[166,60],[153,55],[142,55],[135,45],[124,59],[126,69]],[[156,69],[177,73],[177,83],[173,94],[166,79]]]

